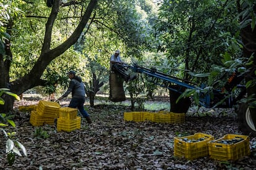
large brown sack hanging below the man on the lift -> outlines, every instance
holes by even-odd
[[[126,100],[126,95],[124,94],[124,79],[122,79],[116,73],[110,73],[109,75],[109,86],[110,94],[109,100],[112,102],[122,102]]]

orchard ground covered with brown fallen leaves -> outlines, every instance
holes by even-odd
[[[22,103],[22,102],[20,102]],[[19,104],[20,104],[19,103]],[[25,102],[23,102],[24,104]],[[15,131],[27,149],[9,166],[6,139],[0,142],[0,168],[3,169],[256,169],[255,139],[250,138],[252,154],[237,161],[216,161],[209,156],[187,160],[174,156],[174,137],[197,132],[218,139],[225,134],[241,134],[235,114],[219,113],[186,116],[182,124],[124,121],[129,106],[95,105],[88,109],[93,123],[82,119],[81,129],[58,132],[55,125],[34,127],[30,113],[16,111]]]

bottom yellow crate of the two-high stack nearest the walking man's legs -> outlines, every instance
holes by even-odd
[[[81,117],[75,119],[57,119],[57,131],[71,132],[81,128]]]

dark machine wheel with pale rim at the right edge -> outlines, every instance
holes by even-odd
[[[241,103],[237,109],[237,116],[239,122],[239,129],[245,135],[256,136],[256,129],[252,117],[250,116],[250,109],[247,103]]]

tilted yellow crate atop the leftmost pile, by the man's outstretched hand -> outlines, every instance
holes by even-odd
[[[39,115],[41,116],[58,118],[59,108],[61,108],[61,106],[57,102],[48,102],[45,100],[40,100],[38,103],[38,107],[36,107],[36,111],[38,111]]]

